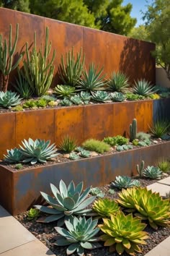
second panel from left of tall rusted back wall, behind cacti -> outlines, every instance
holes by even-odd
[[[61,55],[64,56],[66,63],[66,53],[73,48],[74,56],[76,57],[83,46],[83,27],[73,25],[58,20],[45,18],[45,27],[49,27],[49,40],[52,42],[50,57],[53,55],[53,49],[56,51],[55,56],[55,76],[53,79],[53,87],[61,82],[58,73],[58,67],[61,64]]]

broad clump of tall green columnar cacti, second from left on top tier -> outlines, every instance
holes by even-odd
[[[37,96],[42,96],[50,88],[54,66],[53,61],[55,59],[55,50],[53,51],[52,59],[49,61],[48,55],[50,54],[51,42],[48,45],[49,30],[46,27],[45,33],[45,46],[42,51],[42,45],[40,50],[37,51],[36,46],[36,33],[34,36],[34,46],[29,53],[28,43],[26,43],[26,59],[24,60],[24,74],[27,82],[32,88],[32,91]]]

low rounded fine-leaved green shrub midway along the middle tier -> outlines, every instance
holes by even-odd
[[[86,150],[96,151],[97,153],[108,152],[110,149],[107,143],[94,139],[86,140],[82,145]]]

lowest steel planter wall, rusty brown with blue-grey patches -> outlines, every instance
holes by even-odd
[[[108,184],[115,176],[136,174],[135,166],[144,160],[154,165],[159,158],[168,158],[170,142],[133,150],[84,158],[49,166],[24,168],[12,171],[0,165],[0,204],[16,215],[41,203],[40,191],[50,194],[50,183],[58,186],[61,179],[68,184],[84,181],[84,187],[99,187]]]

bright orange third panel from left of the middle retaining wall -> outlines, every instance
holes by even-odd
[[[55,142],[61,142],[66,135],[84,141],[84,106],[55,109]]]

